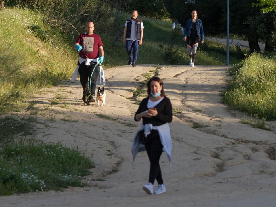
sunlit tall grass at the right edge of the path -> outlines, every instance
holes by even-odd
[[[253,54],[241,61],[224,94],[232,108],[276,120],[276,59]]]

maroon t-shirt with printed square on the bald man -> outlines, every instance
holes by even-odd
[[[76,43],[79,43],[83,49],[79,56],[82,58],[95,59],[99,57],[98,48],[104,46],[101,37],[97,34],[81,34],[78,36]]]

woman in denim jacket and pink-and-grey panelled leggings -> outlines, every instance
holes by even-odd
[[[204,42],[204,33],[202,22],[198,19],[197,11],[193,10],[191,15],[192,18],[186,22],[183,40],[187,40],[187,51],[190,56],[190,66],[195,67],[194,62],[196,59],[196,48],[198,47],[199,37],[201,37],[201,43]]]

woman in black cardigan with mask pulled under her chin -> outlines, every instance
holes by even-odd
[[[150,159],[150,176],[148,183],[143,186],[148,194],[166,192],[159,165],[162,152],[166,152],[169,162],[172,151],[172,139],[168,123],[172,122],[173,109],[170,99],[164,93],[163,83],[159,77],[152,77],[147,82],[148,97],[141,101],[135,113],[135,121],[143,119],[132,145],[133,160],[140,151],[147,151]],[[154,181],[158,186],[153,190]]]

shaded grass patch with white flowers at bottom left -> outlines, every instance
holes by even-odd
[[[0,195],[83,186],[80,177],[94,164],[61,143],[13,142],[0,150]]]

